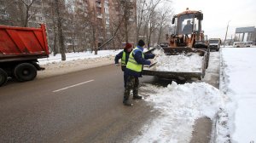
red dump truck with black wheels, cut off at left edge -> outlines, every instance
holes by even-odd
[[[41,28],[0,26],[0,86],[14,77],[19,82],[33,80],[39,58],[49,57],[45,26]]]

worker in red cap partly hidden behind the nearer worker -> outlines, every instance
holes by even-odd
[[[131,53],[132,45],[131,43],[125,44],[125,49],[117,54],[114,58],[114,63],[116,66],[119,66],[119,59],[121,59],[121,67],[122,71],[125,72],[126,64],[128,62],[129,54]],[[124,74],[124,83],[126,85],[127,76]]]

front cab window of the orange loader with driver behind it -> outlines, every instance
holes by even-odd
[[[191,34],[193,30],[194,14],[184,14],[179,17],[178,34]]]

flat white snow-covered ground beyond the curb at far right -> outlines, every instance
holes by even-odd
[[[222,49],[220,89],[227,98],[232,142],[256,142],[256,49]]]

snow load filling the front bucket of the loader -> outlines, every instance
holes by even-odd
[[[203,56],[199,54],[166,55],[161,50],[155,50],[154,54],[159,55],[153,61],[157,63],[147,70],[161,72],[201,72],[202,70]]]

